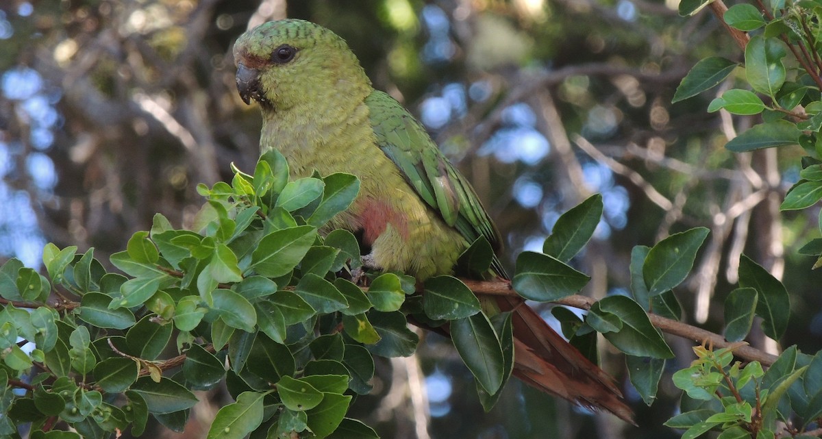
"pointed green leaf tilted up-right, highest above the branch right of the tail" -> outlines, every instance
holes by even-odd
[[[696,252],[709,232],[709,229],[698,227],[674,233],[651,248],[642,267],[651,296],[673,289],[685,280],[694,266]]]

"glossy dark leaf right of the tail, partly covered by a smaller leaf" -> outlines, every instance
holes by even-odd
[[[671,348],[665,343],[663,335],[649,321],[639,303],[625,296],[608,296],[593,303],[590,314],[603,317],[613,314],[620,318],[622,325],[617,332],[606,332],[603,335],[617,349],[637,357],[672,358]]]

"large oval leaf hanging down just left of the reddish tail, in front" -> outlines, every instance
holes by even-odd
[[[477,378],[480,386],[494,395],[502,384],[505,358],[491,321],[480,312],[472,317],[451,321],[450,331],[451,340],[465,366]]]

